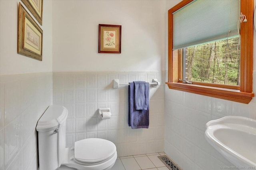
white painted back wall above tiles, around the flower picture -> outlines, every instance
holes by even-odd
[[[165,1],[53,1],[53,71],[164,70]],[[121,54],[98,53],[98,24],[122,25]]]

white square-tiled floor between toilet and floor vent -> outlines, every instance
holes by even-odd
[[[169,170],[157,157],[164,152],[119,157],[111,170]]]

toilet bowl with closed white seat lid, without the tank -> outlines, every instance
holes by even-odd
[[[61,165],[78,170],[108,170],[116,162],[114,143],[105,139],[89,138],[75,142],[74,148],[65,149]]]

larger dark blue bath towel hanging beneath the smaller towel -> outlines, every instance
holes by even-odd
[[[149,97],[147,98],[148,107],[146,110],[136,110],[134,104],[134,82],[130,82],[128,86],[128,125],[132,129],[148,128],[149,125]],[[149,86],[148,86],[149,94]]]

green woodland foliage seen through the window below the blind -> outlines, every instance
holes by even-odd
[[[186,48],[187,80],[240,85],[239,37]]]

